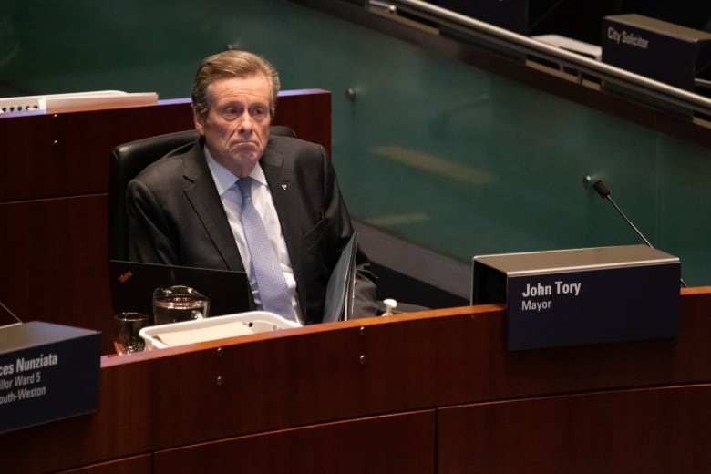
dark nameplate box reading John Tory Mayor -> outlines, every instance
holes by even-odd
[[[509,350],[671,338],[679,259],[645,245],[475,257],[472,304],[506,304]]]

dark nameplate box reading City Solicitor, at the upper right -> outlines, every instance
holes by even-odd
[[[711,60],[711,34],[644,15],[603,18],[603,62],[693,91]]]

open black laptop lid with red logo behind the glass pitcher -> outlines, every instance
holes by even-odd
[[[210,316],[251,311],[247,273],[211,268],[110,260],[111,300],[115,313],[153,314],[153,291],[182,284],[210,299]]]

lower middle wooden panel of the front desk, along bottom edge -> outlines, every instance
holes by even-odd
[[[427,410],[160,451],[154,472],[425,474],[435,469],[434,437],[435,412]]]

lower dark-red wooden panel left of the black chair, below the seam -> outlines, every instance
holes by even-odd
[[[0,203],[0,300],[24,321],[113,335],[107,208],[106,194]]]

